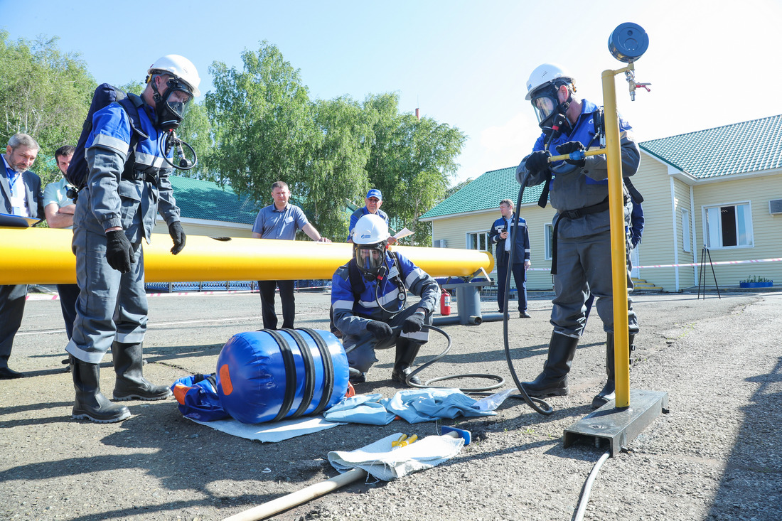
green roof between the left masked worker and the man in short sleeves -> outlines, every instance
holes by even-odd
[[[176,176],[170,180],[182,217],[252,225],[260,210],[253,199],[237,196],[230,186]]]

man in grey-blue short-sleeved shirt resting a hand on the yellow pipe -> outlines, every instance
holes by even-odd
[[[285,181],[276,181],[271,185],[271,197],[274,204],[261,208],[253,225],[253,237],[256,239],[296,239],[296,231],[301,230],[317,243],[331,243],[330,239],[310,225],[307,216],[300,207],[289,204],[291,192]],[[293,329],[296,317],[296,298],[293,296],[292,280],[259,280],[260,311],[264,317],[264,329],[277,329],[277,314],[274,313],[274,289],[280,289],[282,302],[282,327]]]

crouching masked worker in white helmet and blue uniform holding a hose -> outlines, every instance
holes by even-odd
[[[391,379],[406,383],[411,365],[429,332],[439,299],[435,279],[407,257],[387,249],[389,228],[382,217],[364,215],[353,229],[353,259],[340,266],[332,279],[334,324],[343,333],[350,364],[350,382],[362,383],[375,358],[375,349],[396,345]],[[421,297],[404,307],[407,290]],[[414,376],[411,383],[421,385]]]

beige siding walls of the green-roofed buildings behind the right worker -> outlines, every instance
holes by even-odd
[[[750,203],[753,245],[712,247],[709,250],[712,262],[782,257],[782,215],[769,213],[769,200],[782,199],[782,171],[696,181],[691,175],[642,151],[640,167],[632,181],[644,196],[644,235],[637,264],[639,278],[669,292],[698,286],[705,242],[705,208],[714,205]],[[551,225],[554,210],[551,206],[541,209],[536,203],[529,203],[522,205],[519,213],[527,221],[532,250],[533,270],[527,272],[527,289],[551,290],[553,282],[548,270],[551,258],[546,257],[545,244],[547,225]],[[439,217],[432,221],[432,238],[445,239],[449,248],[465,248],[468,233],[487,232],[498,217],[498,209]],[[656,267],[669,264],[695,265]],[[547,269],[538,271],[540,268]],[[735,287],[740,280],[753,275],[773,279],[776,285],[782,285],[782,262],[715,266],[714,270],[719,286]],[[496,270],[494,274],[496,277]],[[705,275],[705,284],[714,286],[710,266]]]

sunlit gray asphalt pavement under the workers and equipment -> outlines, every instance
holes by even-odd
[[[533,295],[532,318],[515,314],[508,322],[522,379],[543,366],[550,299]],[[214,372],[231,336],[262,327],[259,300],[257,293],[151,297],[145,376],[170,384]],[[782,294],[645,294],[635,301],[641,332],[631,388],[667,393],[669,412],[604,463],[584,519],[782,519]],[[328,293],[298,293],[296,326],[328,330],[328,302]],[[485,314],[496,309],[482,303]],[[552,415],[510,398],[495,416],[444,420],[475,437],[449,462],[389,483],[353,483],[273,519],[573,519],[605,447],[565,448],[563,432],[590,414],[603,385],[601,326],[593,312],[571,393],[548,400]],[[424,379],[481,372],[511,382],[502,322],[443,329],[453,346]],[[124,422],[76,421],[73,384],[61,364],[65,343],[59,302],[31,298],[10,360],[26,377],[0,381],[0,519],[224,519],[335,476],[328,451],[439,429],[401,420],[351,424],[261,444],[183,418],[173,399],[124,402],[132,413]],[[445,346],[433,334],[418,362]],[[378,358],[357,392],[391,397],[402,389],[390,381],[393,350]],[[110,354],[101,386],[110,397]]]

